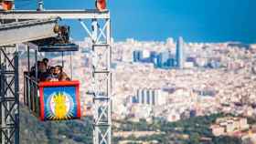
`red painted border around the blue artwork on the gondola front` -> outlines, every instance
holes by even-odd
[[[40,120],[45,121],[45,106],[44,106],[44,87],[76,87],[76,102],[78,104],[77,113],[78,118],[81,117],[80,112],[80,81],[54,81],[54,82],[40,82],[38,84],[39,88],[39,98],[40,98]]]

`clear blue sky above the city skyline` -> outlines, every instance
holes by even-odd
[[[16,8],[36,7],[16,1]],[[34,3],[34,4],[33,4]],[[116,40],[242,41],[256,43],[256,0],[109,0]],[[28,4],[28,5],[26,5]],[[94,0],[45,0],[47,9],[92,8]],[[69,23],[72,36],[85,35],[78,22]]]

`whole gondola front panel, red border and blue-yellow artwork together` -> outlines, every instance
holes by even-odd
[[[79,81],[39,83],[40,119],[80,118]]]

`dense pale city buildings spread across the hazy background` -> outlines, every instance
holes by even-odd
[[[88,39],[77,43],[80,51],[72,57],[73,78],[80,80],[82,113],[91,116],[91,43]],[[26,55],[22,49],[20,57]],[[60,56],[41,54],[38,58],[49,57],[49,65],[57,65],[61,64]],[[114,119],[174,122],[216,113],[256,118],[256,45],[185,44],[182,38],[168,38],[165,42],[127,39],[113,42],[112,56]],[[71,76],[69,55],[63,59],[64,69]],[[27,69],[27,59],[20,62],[22,73]],[[236,120],[228,121],[230,127],[239,127]],[[212,128],[216,134],[227,129],[219,127],[219,123]]]

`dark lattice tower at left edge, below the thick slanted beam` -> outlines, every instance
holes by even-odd
[[[0,141],[2,144],[17,144],[19,142],[19,95],[16,48],[0,47],[0,64]]]

